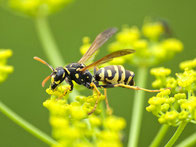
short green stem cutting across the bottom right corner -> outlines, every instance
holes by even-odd
[[[191,147],[196,144],[196,133],[189,136],[187,139],[182,141],[180,144],[178,144],[176,147]]]

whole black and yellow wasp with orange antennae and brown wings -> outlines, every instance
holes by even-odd
[[[61,82],[64,80],[70,85],[70,91],[73,90],[73,81],[75,81],[79,85],[84,85],[88,89],[94,89],[97,91],[98,95],[100,96],[99,88],[104,88],[104,93],[106,97],[106,88],[112,87],[124,87],[130,88],[135,90],[144,90],[148,92],[158,92],[159,90],[148,90],[144,88],[139,88],[134,85],[134,72],[125,70],[121,65],[110,65],[103,68],[98,69],[98,66],[104,64],[108,61],[111,61],[113,58],[125,56],[131,53],[134,53],[135,50],[133,49],[123,49],[120,51],[113,52],[100,60],[86,66],[85,62],[88,61],[92,55],[114,34],[116,33],[116,28],[110,28],[105,30],[104,32],[100,33],[87,50],[87,52],[82,56],[82,58],[77,63],[71,63],[65,67],[57,67],[54,69],[51,65],[49,65],[44,60],[34,57],[35,60],[40,61],[41,63],[47,65],[51,70],[52,74],[46,77],[43,82],[42,86],[51,78],[51,89],[55,89]],[[92,75],[88,69],[94,68],[94,75]],[[99,82],[103,84],[100,85]],[[64,94],[66,94],[65,91]],[[89,114],[93,113],[97,107],[98,99],[95,103],[95,106]],[[108,100],[106,97],[106,104],[107,108],[109,109]]]

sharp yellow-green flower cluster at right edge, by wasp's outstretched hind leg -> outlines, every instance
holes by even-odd
[[[158,117],[160,123],[178,126],[181,122],[196,123],[196,67],[195,59],[180,64],[183,73],[169,76],[170,69],[153,68],[156,77],[153,87],[168,87],[149,99],[146,110]]]

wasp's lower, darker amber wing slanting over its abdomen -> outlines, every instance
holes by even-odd
[[[96,62],[94,62],[94,63],[92,63],[92,64],[90,64],[90,65],[88,65],[88,66],[86,66],[84,68],[82,68],[81,71],[85,71],[85,70],[87,70],[89,68],[96,67],[96,66],[104,64],[106,62],[109,62],[113,58],[125,56],[125,55],[128,55],[128,54],[132,54],[134,52],[135,52],[135,50],[133,50],[133,49],[123,49],[123,50],[120,50],[120,51],[113,52],[113,53],[111,53],[109,55],[104,56],[103,58],[99,59],[98,61],[96,61]]]

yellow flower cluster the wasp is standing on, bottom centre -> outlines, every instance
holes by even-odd
[[[121,147],[124,119],[105,116],[99,105],[93,114],[88,115],[98,95],[77,96],[70,102],[69,92],[62,97],[66,89],[65,85],[59,85],[55,91],[47,89],[51,97],[43,103],[50,112],[52,135],[59,143],[54,147]],[[104,99],[101,95],[100,101]]]

